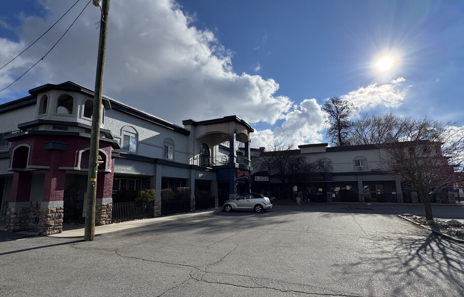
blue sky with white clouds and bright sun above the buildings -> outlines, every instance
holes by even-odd
[[[76,1],[3,1],[0,67]],[[94,89],[100,10],[86,5],[0,70],[3,89],[40,61],[0,104],[46,83]],[[180,126],[237,115],[255,129],[251,147],[328,142],[322,107],[338,96],[353,119],[464,129],[463,1],[112,0],[108,21],[103,93]]]

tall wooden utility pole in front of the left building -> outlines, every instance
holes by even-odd
[[[92,113],[92,134],[90,138],[89,180],[87,184],[86,227],[84,239],[92,241],[95,238],[95,204],[97,200],[97,169],[100,143],[100,126],[102,120],[102,88],[103,71],[105,68],[106,31],[110,0],[93,0],[93,4],[100,7],[102,16],[100,21],[100,41],[98,43],[97,74],[95,77],[94,109]],[[107,160],[109,162],[109,160]]]

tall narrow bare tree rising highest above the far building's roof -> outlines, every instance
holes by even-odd
[[[336,146],[349,145],[350,129],[353,122],[350,118],[357,110],[351,102],[341,100],[339,97],[328,99],[322,109],[328,114],[327,138]]]

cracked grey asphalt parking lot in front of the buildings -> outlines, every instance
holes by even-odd
[[[459,206],[436,206],[464,219]],[[0,295],[457,296],[464,245],[397,216],[400,205],[276,205],[132,231],[0,243]],[[423,213],[422,213],[423,214]]]

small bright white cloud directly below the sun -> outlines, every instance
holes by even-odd
[[[398,108],[406,96],[407,87],[403,85],[404,81],[403,77],[399,77],[390,83],[360,87],[343,95],[342,99],[351,101],[360,111],[379,107]]]

